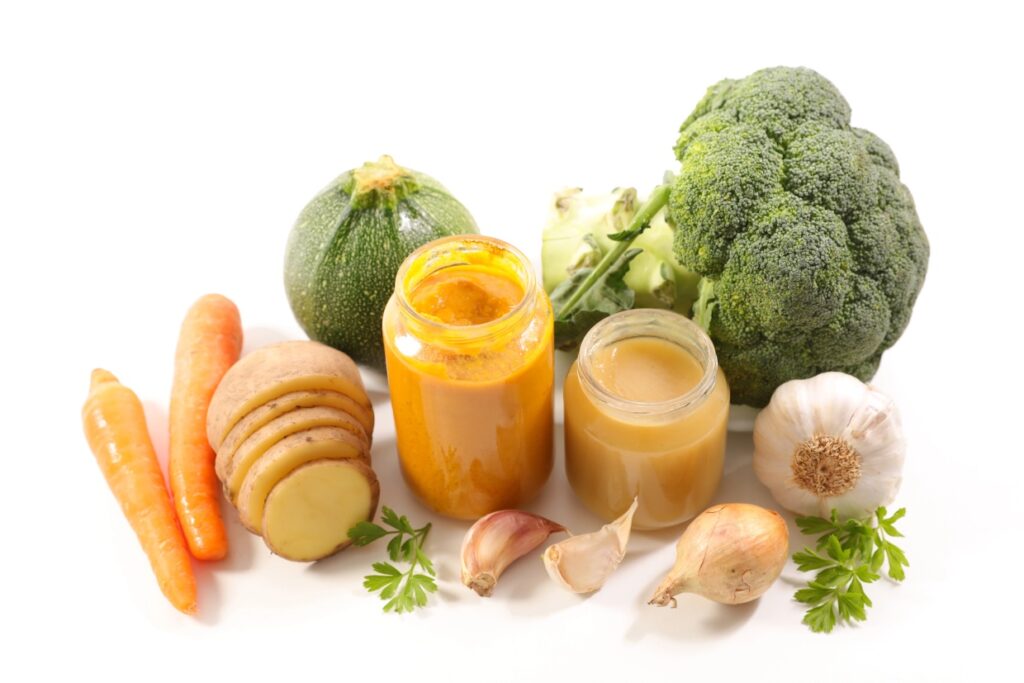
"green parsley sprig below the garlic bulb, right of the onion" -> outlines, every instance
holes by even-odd
[[[839,621],[866,620],[871,600],[864,593],[864,584],[878,581],[883,565],[888,564],[893,581],[906,578],[906,555],[890,540],[903,536],[895,524],[906,514],[906,508],[888,514],[882,507],[866,519],[840,521],[836,510],[828,519],[797,517],[801,531],[821,535],[815,550],[804,548],[793,556],[801,571],[817,571],[807,588],[793,596],[811,605],[804,614],[804,624],[811,631],[829,633]]]

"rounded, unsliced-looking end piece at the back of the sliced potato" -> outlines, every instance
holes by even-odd
[[[373,410],[359,371],[347,355],[312,341],[265,346],[231,367],[207,413],[207,437],[219,451],[231,428],[275,398],[296,391],[336,391]]]

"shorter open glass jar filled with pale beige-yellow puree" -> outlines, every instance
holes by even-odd
[[[639,505],[636,528],[702,511],[722,477],[729,386],[715,346],[669,310],[635,309],[584,338],[564,387],[565,471],[577,496],[612,520]]]

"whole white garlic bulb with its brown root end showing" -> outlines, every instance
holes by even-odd
[[[754,423],[754,472],[805,515],[862,518],[889,505],[905,452],[893,400],[843,373],[786,382]]]

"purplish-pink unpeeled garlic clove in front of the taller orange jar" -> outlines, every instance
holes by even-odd
[[[564,530],[557,522],[522,510],[499,510],[480,517],[462,541],[462,583],[490,597],[508,565],[552,533]]]

